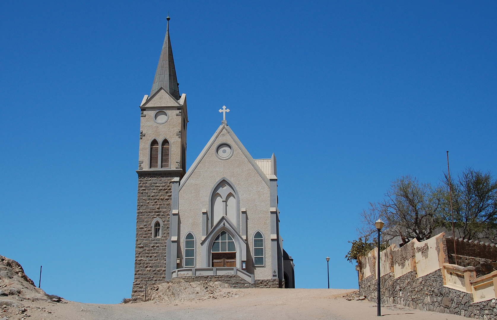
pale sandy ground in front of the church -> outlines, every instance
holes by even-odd
[[[344,289],[227,289],[225,297],[176,303],[145,302],[98,305],[69,301],[67,304],[23,301],[0,311],[0,320],[275,320],[275,319],[373,319],[376,305],[347,301]],[[5,310],[5,312],[3,312]],[[22,312],[22,310],[25,310]],[[383,317],[394,320],[461,320],[463,317],[383,306]],[[6,318],[4,318],[6,319]]]

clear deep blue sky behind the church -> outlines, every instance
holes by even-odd
[[[278,159],[296,286],[357,287],[358,214],[396,178],[497,173],[495,1],[3,1],[0,255],[66,299],[134,272],[140,109],[169,10],[191,165],[220,125]]]

